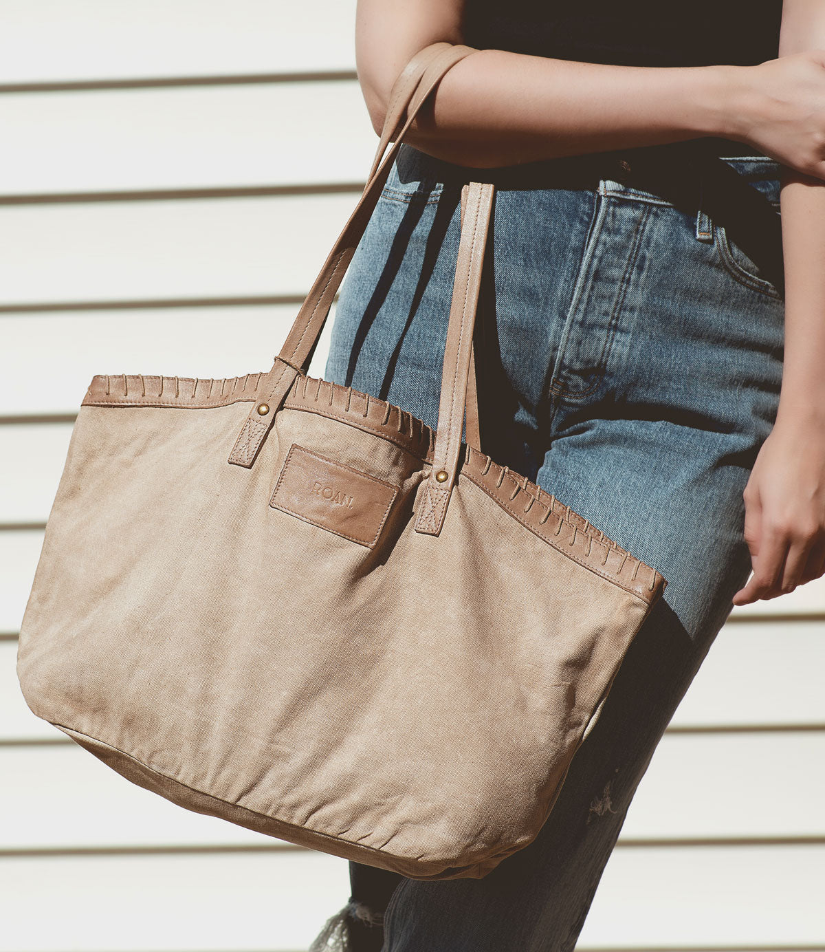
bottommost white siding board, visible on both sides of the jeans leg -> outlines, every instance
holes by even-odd
[[[825,944],[823,869],[825,847],[617,850],[579,948]],[[4,941],[16,952],[305,949],[345,902],[346,870],[309,851],[9,860]]]

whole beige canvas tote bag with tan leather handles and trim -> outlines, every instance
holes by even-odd
[[[490,184],[462,188],[437,429],[305,374],[403,134],[474,51],[403,70],[268,372],[93,378],[17,663],[31,710],[129,781],[422,880],[535,839],[666,584],[481,452]]]

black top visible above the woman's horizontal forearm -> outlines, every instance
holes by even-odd
[[[463,42],[617,66],[756,66],[782,0],[466,0]]]

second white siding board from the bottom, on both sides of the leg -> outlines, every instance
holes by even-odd
[[[781,770],[771,764],[782,764]],[[151,793],[76,744],[0,746],[8,849],[284,843]],[[53,779],[60,778],[55,799]],[[825,787],[825,731],[665,735],[619,843],[718,838],[825,839],[811,810]],[[594,817],[598,822],[598,818]]]

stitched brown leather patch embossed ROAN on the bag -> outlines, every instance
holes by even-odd
[[[372,548],[397,495],[398,486],[293,443],[269,505]]]

